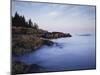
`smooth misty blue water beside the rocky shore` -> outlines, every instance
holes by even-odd
[[[95,69],[95,36],[76,36],[52,40],[57,44],[43,46],[19,57],[26,64],[38,64],[43,71]]]

